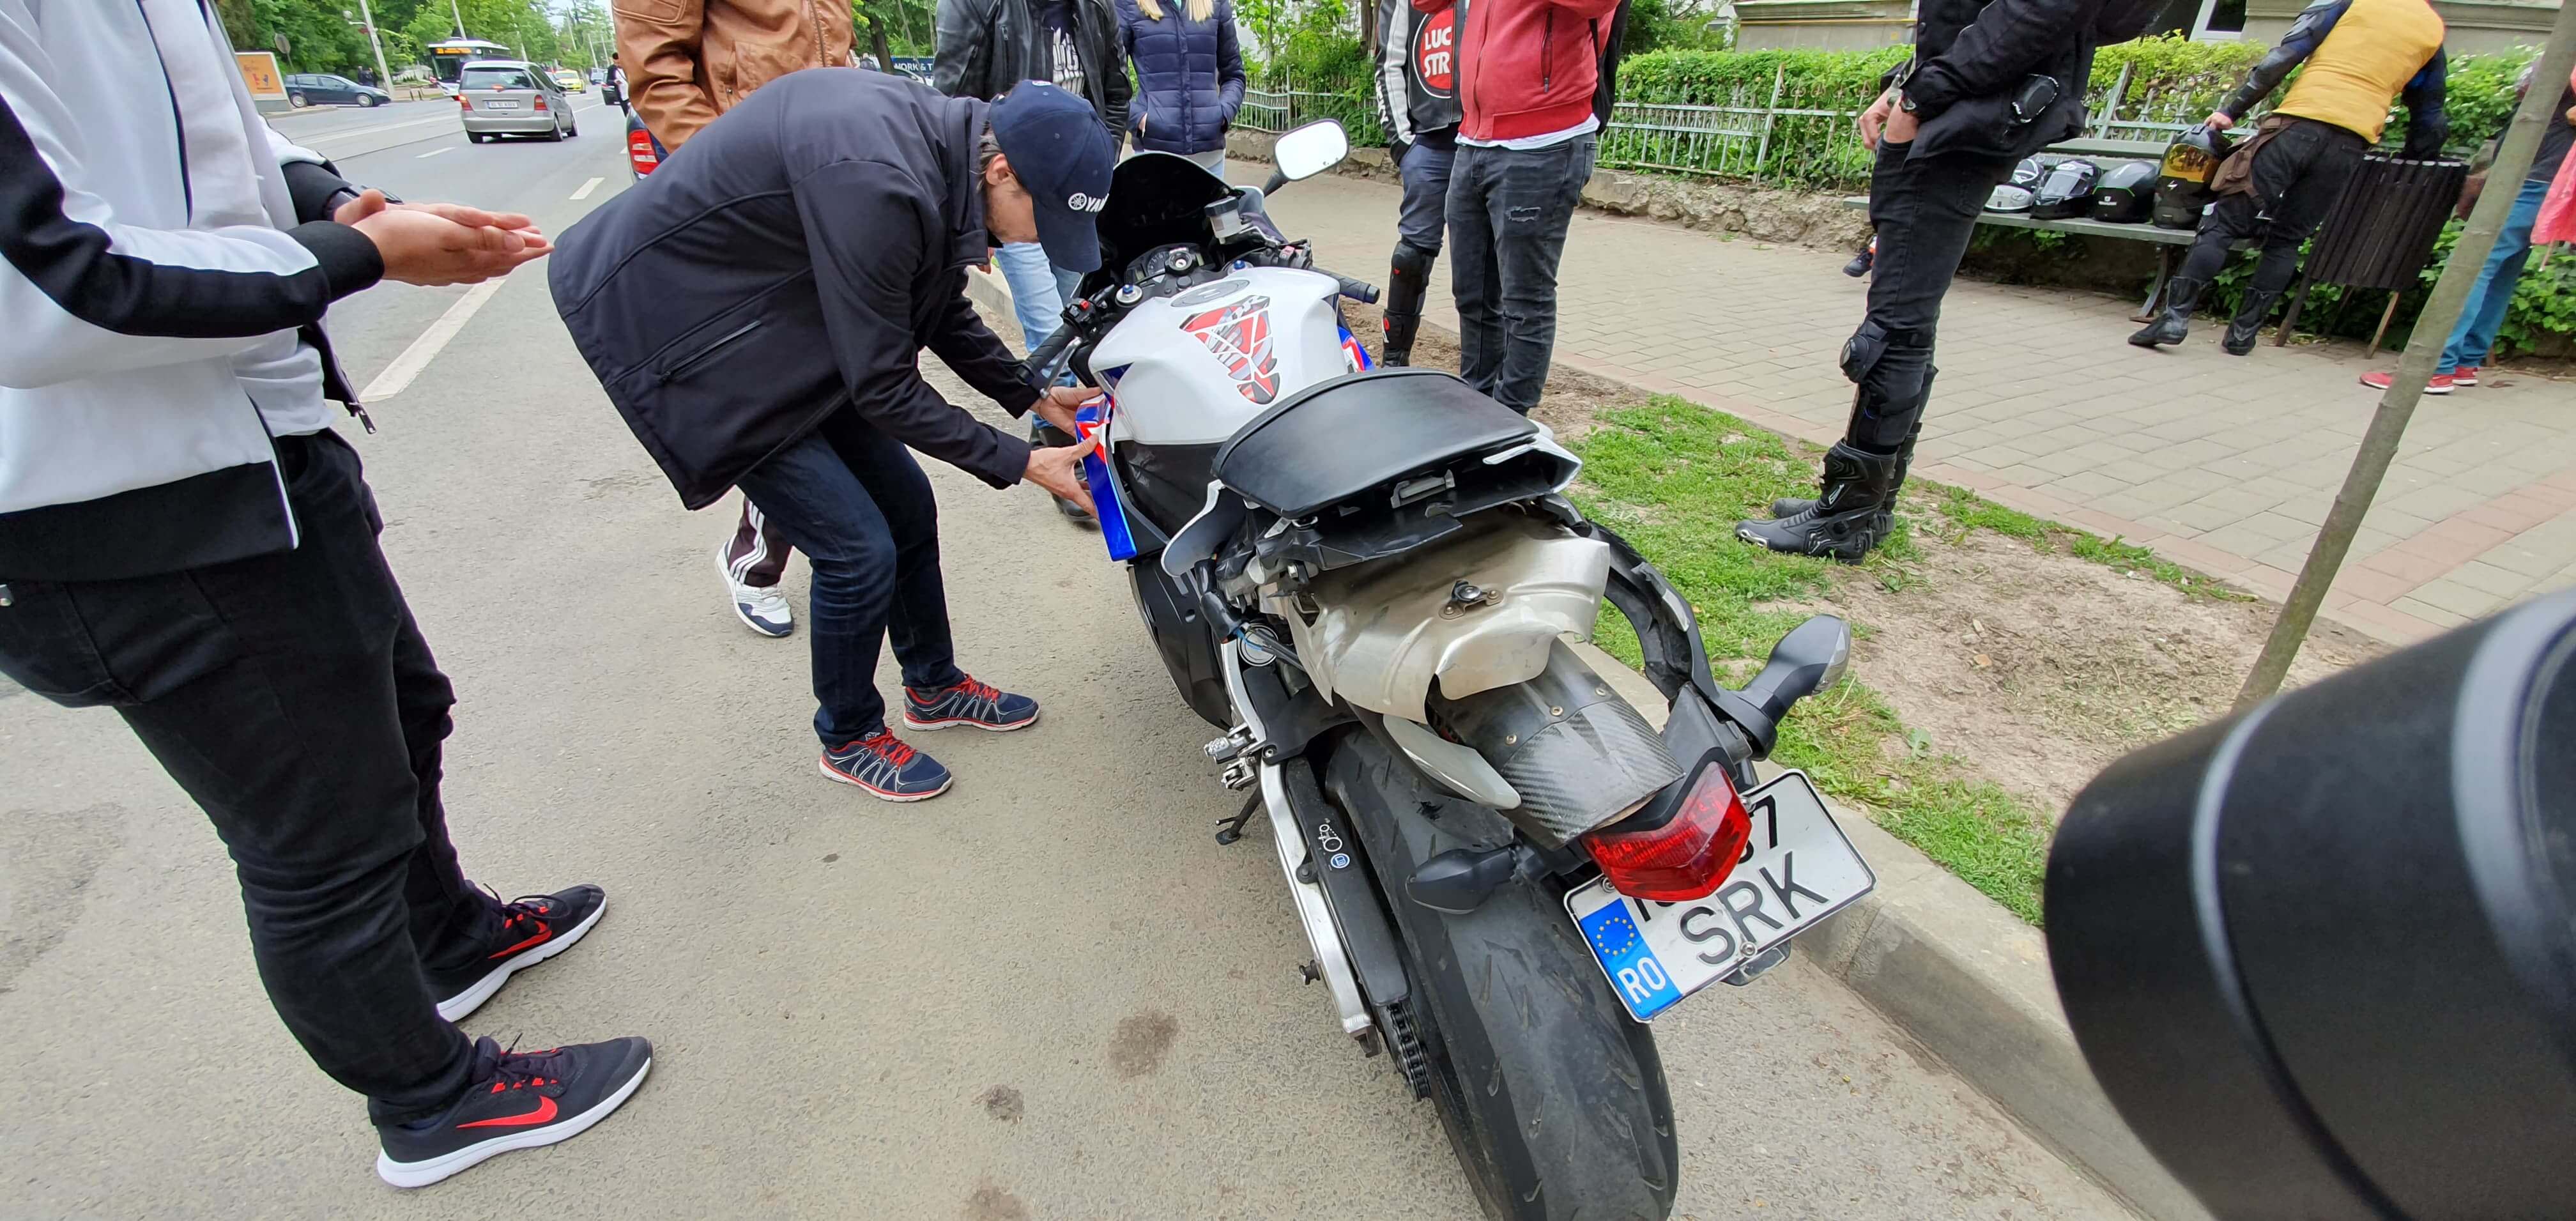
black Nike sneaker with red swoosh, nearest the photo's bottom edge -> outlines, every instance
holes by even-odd
[[[652,1043],[611,1038],[549,1051],[502,1051],[474,1041],[474,1084],[446,1113],[420,1123],[384,1123],[376,1177],[428,1188],[510,1149],[569,1141],[608,1118],[644,1084]]]

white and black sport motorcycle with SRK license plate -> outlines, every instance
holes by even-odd
[[[1278,139],[1267,191],[1347,155]],[[1489,1216],[1662,1218],[1680,1157],[1649,1020],[1749,984],[1875,878],[1814,786],[1759,783],[1850,629],[1716,683],[1690,605],[1566,497],[1582,461],[1430,368],[1368,368],[1340,299],[1262,211],[1159,152],[1100,216],[1103,270],[1030,355],[1082,415],[1103,538],[1208,724],[1218,824],[1270,827],[1360,1051],[1432,1100]],[[1610,600],[1664,729],[1571,649]]]

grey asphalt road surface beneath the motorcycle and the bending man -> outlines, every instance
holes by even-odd
[[[355,180],[559,232],[629,183],[613,113],[582,106],[567,144],[466,144],[443,103],[286,129]],[[353,379],[461,299],[345,301]],[[1473,1213],[1427,1105],[1298,987],[1267,832],[1208,835],[1231,809],[1208,729],[1097,536],[933,464],[961,662],[1046,719],[917,737],[958,783],[886,806],[814,775],[804,641],[724,608],[729,507],[677,507],[541,276],[487,294],[371,410],[379,435],[343,433],[464,698],[466,868],[505,896],[611,894],[590,940],[466,1028],[644,1033],[652,1082],[572,1144],[397,1200],[361,1103],[270,1015],[206,822],[116,716],[0,693],[0,1213]],[[788,587],[801,608],[801,564]],[[1677,1216],[2125,1216],[1803,963],[1710,989],[1656,1036]]]

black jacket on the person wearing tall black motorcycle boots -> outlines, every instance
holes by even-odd
[[[1906,77],[1922,134],[1906,157],[2020,160],[2081,131],[2102,3],[1922,0]],[[2056,98],[2014,113],[2017,93],[2045,90],[2032,77],[2048,77]]]

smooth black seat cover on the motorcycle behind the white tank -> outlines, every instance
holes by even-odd
[[[1437,368],[1381,368],[1306,386],[1216,451],[1244,500],[1303,518],[1334,500],[1538,435],[1520,412]]]

